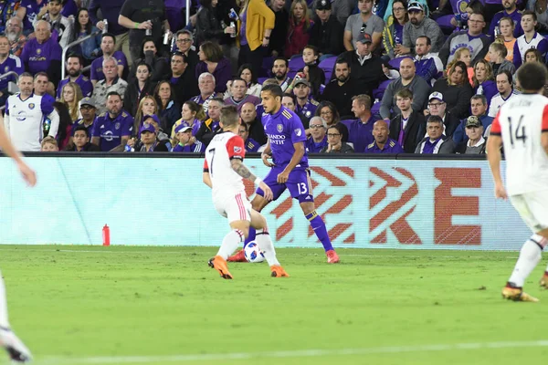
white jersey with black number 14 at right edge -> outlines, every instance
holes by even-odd
[[[490,134],[502,137],[509,195],[548,189],[543,132],[548,132],[548,99],[539,94],[513,96],[493,120]]]

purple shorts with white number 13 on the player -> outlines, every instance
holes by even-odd
[[[274,200],[279,198],[281,193],[285,192],[286,188],[290,190],[291,197],[299,199],[299,203],[313,202],[312,195],[311,172],[310,170],[293,170],[290,172],[290,177],[286,183],[278,183],[278,174],[283,171],[282,168],[274,166],[270,169],[269,174],[263,180],[269,185],[274,194]],[[261,188],[257,188],[258,195],[265,196]]]

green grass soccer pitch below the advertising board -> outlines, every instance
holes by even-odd
[[[0,246],[36,364],[514,364],[546,360],[541,303],[501,299],[517,253],[279,249],[289,278],[214,247]],[[7,363],[7,361],[0,363]]]

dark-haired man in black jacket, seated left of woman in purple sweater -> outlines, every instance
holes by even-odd
[[[195,71],[189,67],[188,58],[184,53],[174,52],[172,55],[169,80],[174,87],[174,99],[179,104],[183,104],[199,92]],[[215,85],[213,88],[215,89]]]

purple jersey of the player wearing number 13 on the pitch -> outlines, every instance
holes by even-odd
[[[281,107],[276,114],[263,115],[262,124],[269,138],[273,162],[277,167],[286,167],[295,153],[293,144],[306,141],[306,133],[300,118],[286,107]],[[298,168],[308,168],[306,150],[296,166],[296,169]]]

